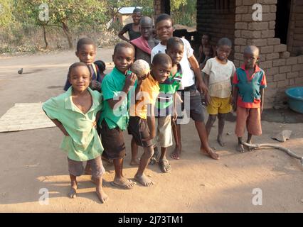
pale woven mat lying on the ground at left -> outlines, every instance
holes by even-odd
[[[42,110],[42,104],[15,104],[1,116],[0,133],[55,127]]]

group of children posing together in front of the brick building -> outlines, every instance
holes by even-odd
[[[216,49],[203,43],[202,54],[210,58],[199,65],[190,43],[184,38],[173,37],[174,24],[169,15],[161,14],[156,18],[156,35],[160,42],[154,39],[153,28],[151,18],[141,18],[141,36],[115,45],[112,55],[115,67],[107,75],[104,74],[105,64],[99,67],[98,62],[94,62],[96,45],[89,38],[80,39],[75,52],[80,62],[69,68],[66,92],[43,104],[47,116],[65,135],[61,148],[68,153],[70,198],[75,198],[77,193],[76,177],[85,171],[92,174],[100,201],[107,201],[108,196],[102,190],[105,169],[101,155],[112,160],[115,167],[112,185],[132,189],[137,184],[123,175],[125,130],[132,135],[130,164],[138,165],[134,179],[146,187],[154,184],[144,174],[148,164],[157,162],[162,172],[171,171],[166,152],[173,144],[173,134],[175,148],[171,157],[179,160],[181,124],[188,114],[195,122],[201,152],[215,160],[219,155],[208,144],[208,135],[217,115],[220,145],[224,145],[225,115],[232,108],[237,111],[235,133],[239,151],[244,150],[245,128],[248,143],[251,143],[252,135],[261,133],[260,113],[266,79],[264,71],[256,65],[259,59],[257,47],[245,48],[245,64],[235,70],[233,62],[228,60],[232,50],[228,38],[220,39]],[[137,77],[131,71],[135,59],[149,62],[150,72]],[[206,125],[201,93],[205,96],[209,114]],[[178,111],[178,105],[181,111]],[[144,150],[140,158],[139,146]],[[159,160],[157,146],[161,147]]]

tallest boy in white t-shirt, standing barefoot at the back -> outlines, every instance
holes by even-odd
[[[159,52],[165,52],[166,50],[166,44],[167,40],[173,36],[173,21],[171,16],[168,14],[160,14],[156,18],[156,33],[161,40],[161,43],[156,45],[156,47],[151,50],[151,61]],[[206,94],[208,92],[208,89],[206,85],[203,83],[201,70],[199,68],[198,62],[196,60],[196,57],[193,55],[193,49],[191,48],[191,45],[188,43],[188,41],[184,38],[181,38],[181,40],[184,43],[184,56],[182,57],[182,60],[180,61],[180,65],[182,68],[182,80],[181,80],[181,98],[184,100],[185,92],[190,93],[190,117],[195,121],[196,130],[198,131],[198,135],[201,141],[201,151],[204,153],[207,153],[212,158],[218,160],[218,154],[215,153],[208,145],[208,138],[206,133],[206,128],[203,122],[203,106],[201,102],[201,95],[200,92],[203,92]],[[191,68],[193,71],[191,71]],[[193,74],[194,72],[194,74]],[[198,84],[198,89],[200,92],[198,92],[195,82],[194,82],[194,76],[196,75],[196,80]],[[175,125],[175,124],[174,124]],[[177,121],[176,127],[173,125],[173,131],[174,131],[174,138],[176,143],[176,148],[174,152],[171,154],[171,157],[173,157],[176,160],[179,160],[182,145],[181,145],[181,126]],[[175,133],[176,132],[176,133]]]

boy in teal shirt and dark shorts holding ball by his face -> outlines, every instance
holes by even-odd
[[[134,47],[130,43],[117,43],[112,60],[115,67],[102,82],[104,98],[100,115],[101,140],[107,160],[113,160],[115,178],[112,185],[122,189],[132,189],[135,182],[125,178],[122,173],[125,144],[122,131],[127,129],[129,120],[129,95],[136,82],[135,74],[128,74],[134,61]]]

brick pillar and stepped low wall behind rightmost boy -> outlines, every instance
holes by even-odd
[[[252,21],[255,3],[262,4],[262,21]],[[285,101],[287,87],[303,85],[303,55],[289,57],[287,45],[275,38],[276,4],[277,0],[235,0],[235,66],[243,64],[245,45],[260,48],[259,65],[267,76],[266,108]]]

